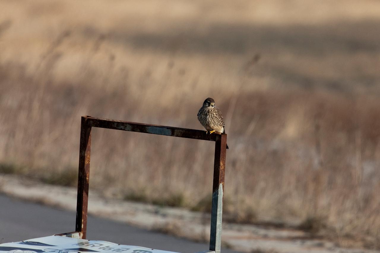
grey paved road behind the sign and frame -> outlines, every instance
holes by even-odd
[[[0,241],[16,242],[75,230],[75,212],[23,202],[0,195]],[[87,238],[160,250],[192,253],[207,250],[207,244],[146,231],[115,221],[88,217]],[[223,253],[237,253],[222,250]]]

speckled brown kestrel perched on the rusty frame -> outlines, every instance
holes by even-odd
[[[215,106],[215,101],[212,98],[204,100],[203,106],[198,111],[198,120],[206,128],[206,134],[214,132],[226,133],[222,112]]]

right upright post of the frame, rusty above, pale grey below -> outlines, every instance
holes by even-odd
[[[222,243],[222,208],[227,136],[215,141],[214,180],[212,183],[210,250],[220,253]]]

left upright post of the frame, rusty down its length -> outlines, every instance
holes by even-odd
[[[81,239],[86,239],[87,205],[89,200],[91,126],[87,126],[87,117],[81,120],[81,140],[79,144],[78,196],[76,202],[75,231]]]

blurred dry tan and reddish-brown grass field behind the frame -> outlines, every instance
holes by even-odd
[[[2,1],[0,171],[76,185],[80,117],[228,134],[226,220],[380,248],[380,2]],[[90,187],[207,211],[211,142],[93,129]]]

